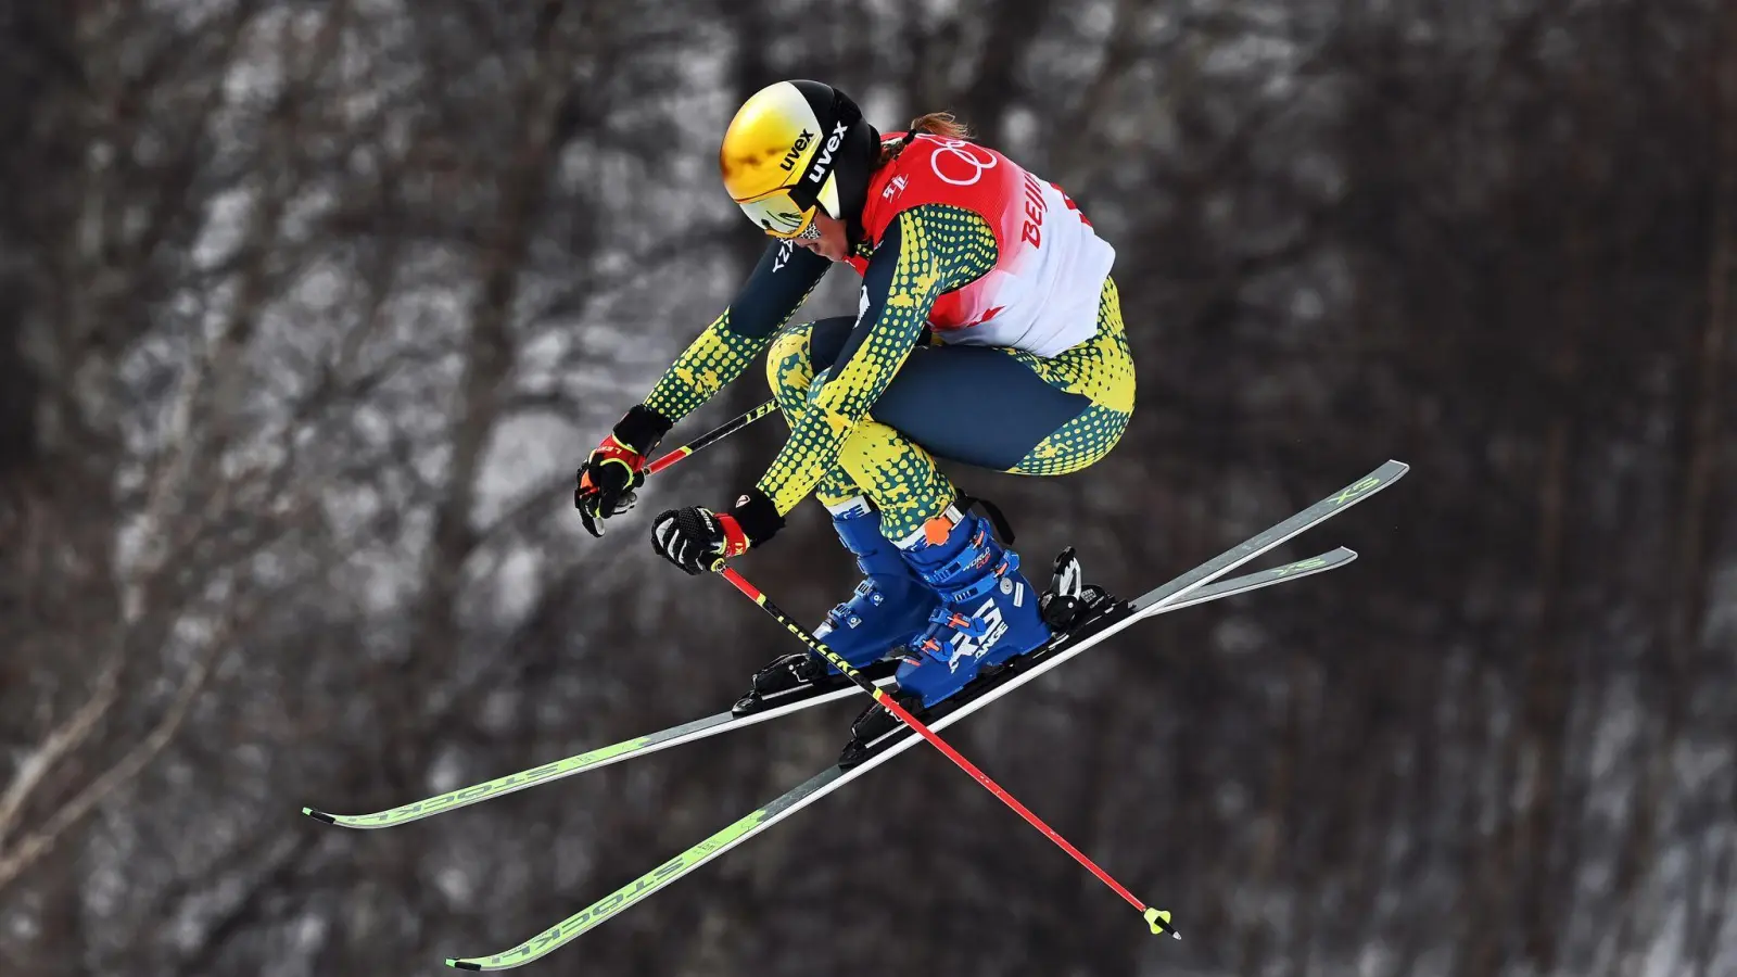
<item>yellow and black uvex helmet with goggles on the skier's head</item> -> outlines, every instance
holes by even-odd
[[[879,146],[881,134],[844,92],[820,82],[778,82],[736,110],[717,169],[730,196],[768,235],[811,233],[815,207],[855,231]]]

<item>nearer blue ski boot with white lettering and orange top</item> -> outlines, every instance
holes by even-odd
[[[985,666],[1040,647],[1051,631],[1039,608],[1042,591],[1020,572],[1020,555],[995,541],[987,518],[948,509],[924,530],[928,539],[907,549],[905,560],[940,593],[941,607],[898,666],[898,690],[921,697],[928,709]]]

